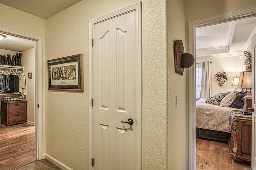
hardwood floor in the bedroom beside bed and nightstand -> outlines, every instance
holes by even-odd
[[[250,162],[235,162],[228,143],[197,138],[196,170],[250,170]]]

